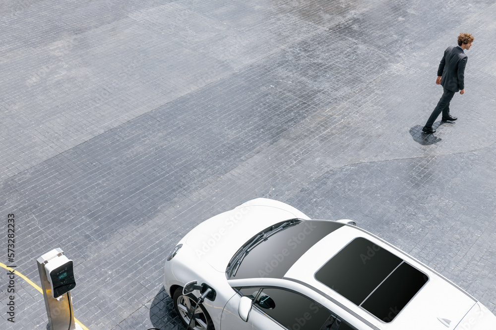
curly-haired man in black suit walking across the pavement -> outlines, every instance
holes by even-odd
[[[442,112],[442,121],[453,121],[456,117],[449,114],[449,102],[454,94],[460,91],[460,94],[465,93],[465,65],[467,64],[467,55],[463,52],[465,49],[470,49],[474,37],[469,33],[460,33],[458,36],[457,47],[447,47],[444,50],[439,68],[437,69],[437,79],[435,83],[441,85],[443,93],[439,102],[437,102],[431,117],[427,120],[426,126],[422,129],[424,133],[434,133],[434,121]]]

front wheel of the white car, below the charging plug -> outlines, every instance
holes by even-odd
[[[174,291],[174,307],[176,308],[176,312],[179,315],[181,321],[185,327],[189,324],[191,320],[191,316],[193,317],[193,321],[191,321],[191,325],[189,329],[192,330],[214,330],[214,325],[212,319],[208,315],[205,308],[200,304],[196,306],[197,298],[192,294],[183,294],[183,288],[178,287],[176,291]],[[195,308],[196,306],[196,308]],[[193,313],[194,308],[194,313]],[[189,330],[186,329],[186,330]]]

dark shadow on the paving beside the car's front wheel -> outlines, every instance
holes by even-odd
[[[150,322],[155,329],[183,330],[185,327],[174,308],[174,302],[162,286],[150,306]]]

